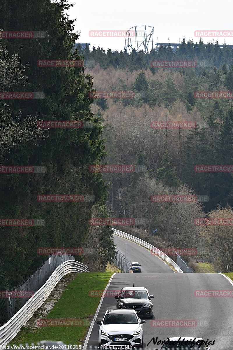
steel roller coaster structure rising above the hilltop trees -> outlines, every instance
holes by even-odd
[[[134,26],[127,30],[125,37],[125,48],[129,54],[132,50],[142,51],[144,53],[153,49],[154,27]]]

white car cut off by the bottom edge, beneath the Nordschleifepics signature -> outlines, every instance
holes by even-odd
[[[207,339],[209,340],[209,339]],[[185,344],[186,342],[186,344]],[[193,342],[193,343],[191,343]],[[212,342],[211,342],[212,343]],[[207,343],[208,344],[208,343]],[[209,345],[205,344],[202,338],[194,337],[171,337],[166,344],[163,344],[160,350],[171,350],[171,349],[182,349],[182,350],[211,350]],[[159,349],[155,349],[159,350]]]

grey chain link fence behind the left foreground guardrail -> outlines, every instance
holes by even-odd
[[[7,322],[30,297],[41,288],[48,280],[56,268],[64,261],[75,260],[74,257],[66,253],[51,255],[37,271],[26,279],[21,285],[1,292],[1,323]]]

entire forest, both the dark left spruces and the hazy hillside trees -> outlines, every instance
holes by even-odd
[[[0,92],[41,94],[37,99],[0,99],[0,166],[45,169],[1,171],[0,217],[46,223],[0,226],[1,290],[38,268],[45,259],[37,254],[38,247],[92,247],[94,254],[75,259],[91,271],[105,271],[115,255],[112,232],[107,225],[90,225],[90,218],[134,218],[134,225],[120,229],[148,236],[157,230],[158,248],[206,248],[218,257],[222,271],[233,271],[231,226],[194,221],[232,217],[232,173],[195,172],[194,167],[232,165],[231,95],[197,98],[197,92],[233,90],[233,51],[218,42],[191,39],[183,39],[175,53],[170,46],[131,55],[89,50],[88,45],[74,50],[79,35],[66,16],[72,7],[66,0],[38,0],[27,7],[3,0],[1,7],[1,30],[43,28],[46,33],[33,40],[0,38]],[[83,60],[84,65],[37,64],[54,58]],[[158,68],[152,64],[156,60],[192,60],[197,65]],[[91,97],[96,91],[133,91],[133,98]],[[79,120],[84,126],[39,128],[42,120]],[[156,122],[195,127],[151,127]],[[143,171],[90,172],[93,165],[133,165]],[[39,195],[67,194],[94,200],[37,200]],[[198,199],[161,203],[151,201],[154,195]],[[208,200],[202,202],[203,197]]]

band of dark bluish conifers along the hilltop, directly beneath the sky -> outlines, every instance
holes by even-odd
[[[196,60],[197,67],[195,69],[199,73],[202,73],[205,69],[220,68],[223,65],[229,67],[233,64],[233,50],[225,43],[220,45],[218,40],[204,44],[202,38],[199,39],[198,43],[194,43],[191,38],[185,42],[185,38],[183,38],[176,51],[173,51],[171,45],[168,43],[167,47],[160,45],[157,49],[153,48],[147,53],[143,53],[142,51],[136,52],[133,49],[130,55],[126,50],[120,52],[111,49],[105,50],[100,46],[97,48],[93,46],[93,49],[90,50],[87,44],[85,48],[81,49],[81,45],[79,43],[76,44],[77,51],[86,60],[90,60],[87,67],[93,67],[99,63],[103,69],[111,65],[119,69],[128,68],[130,71],[147,68],[154,71],[155,68],[151,67],[153,60],[187,59]]]

